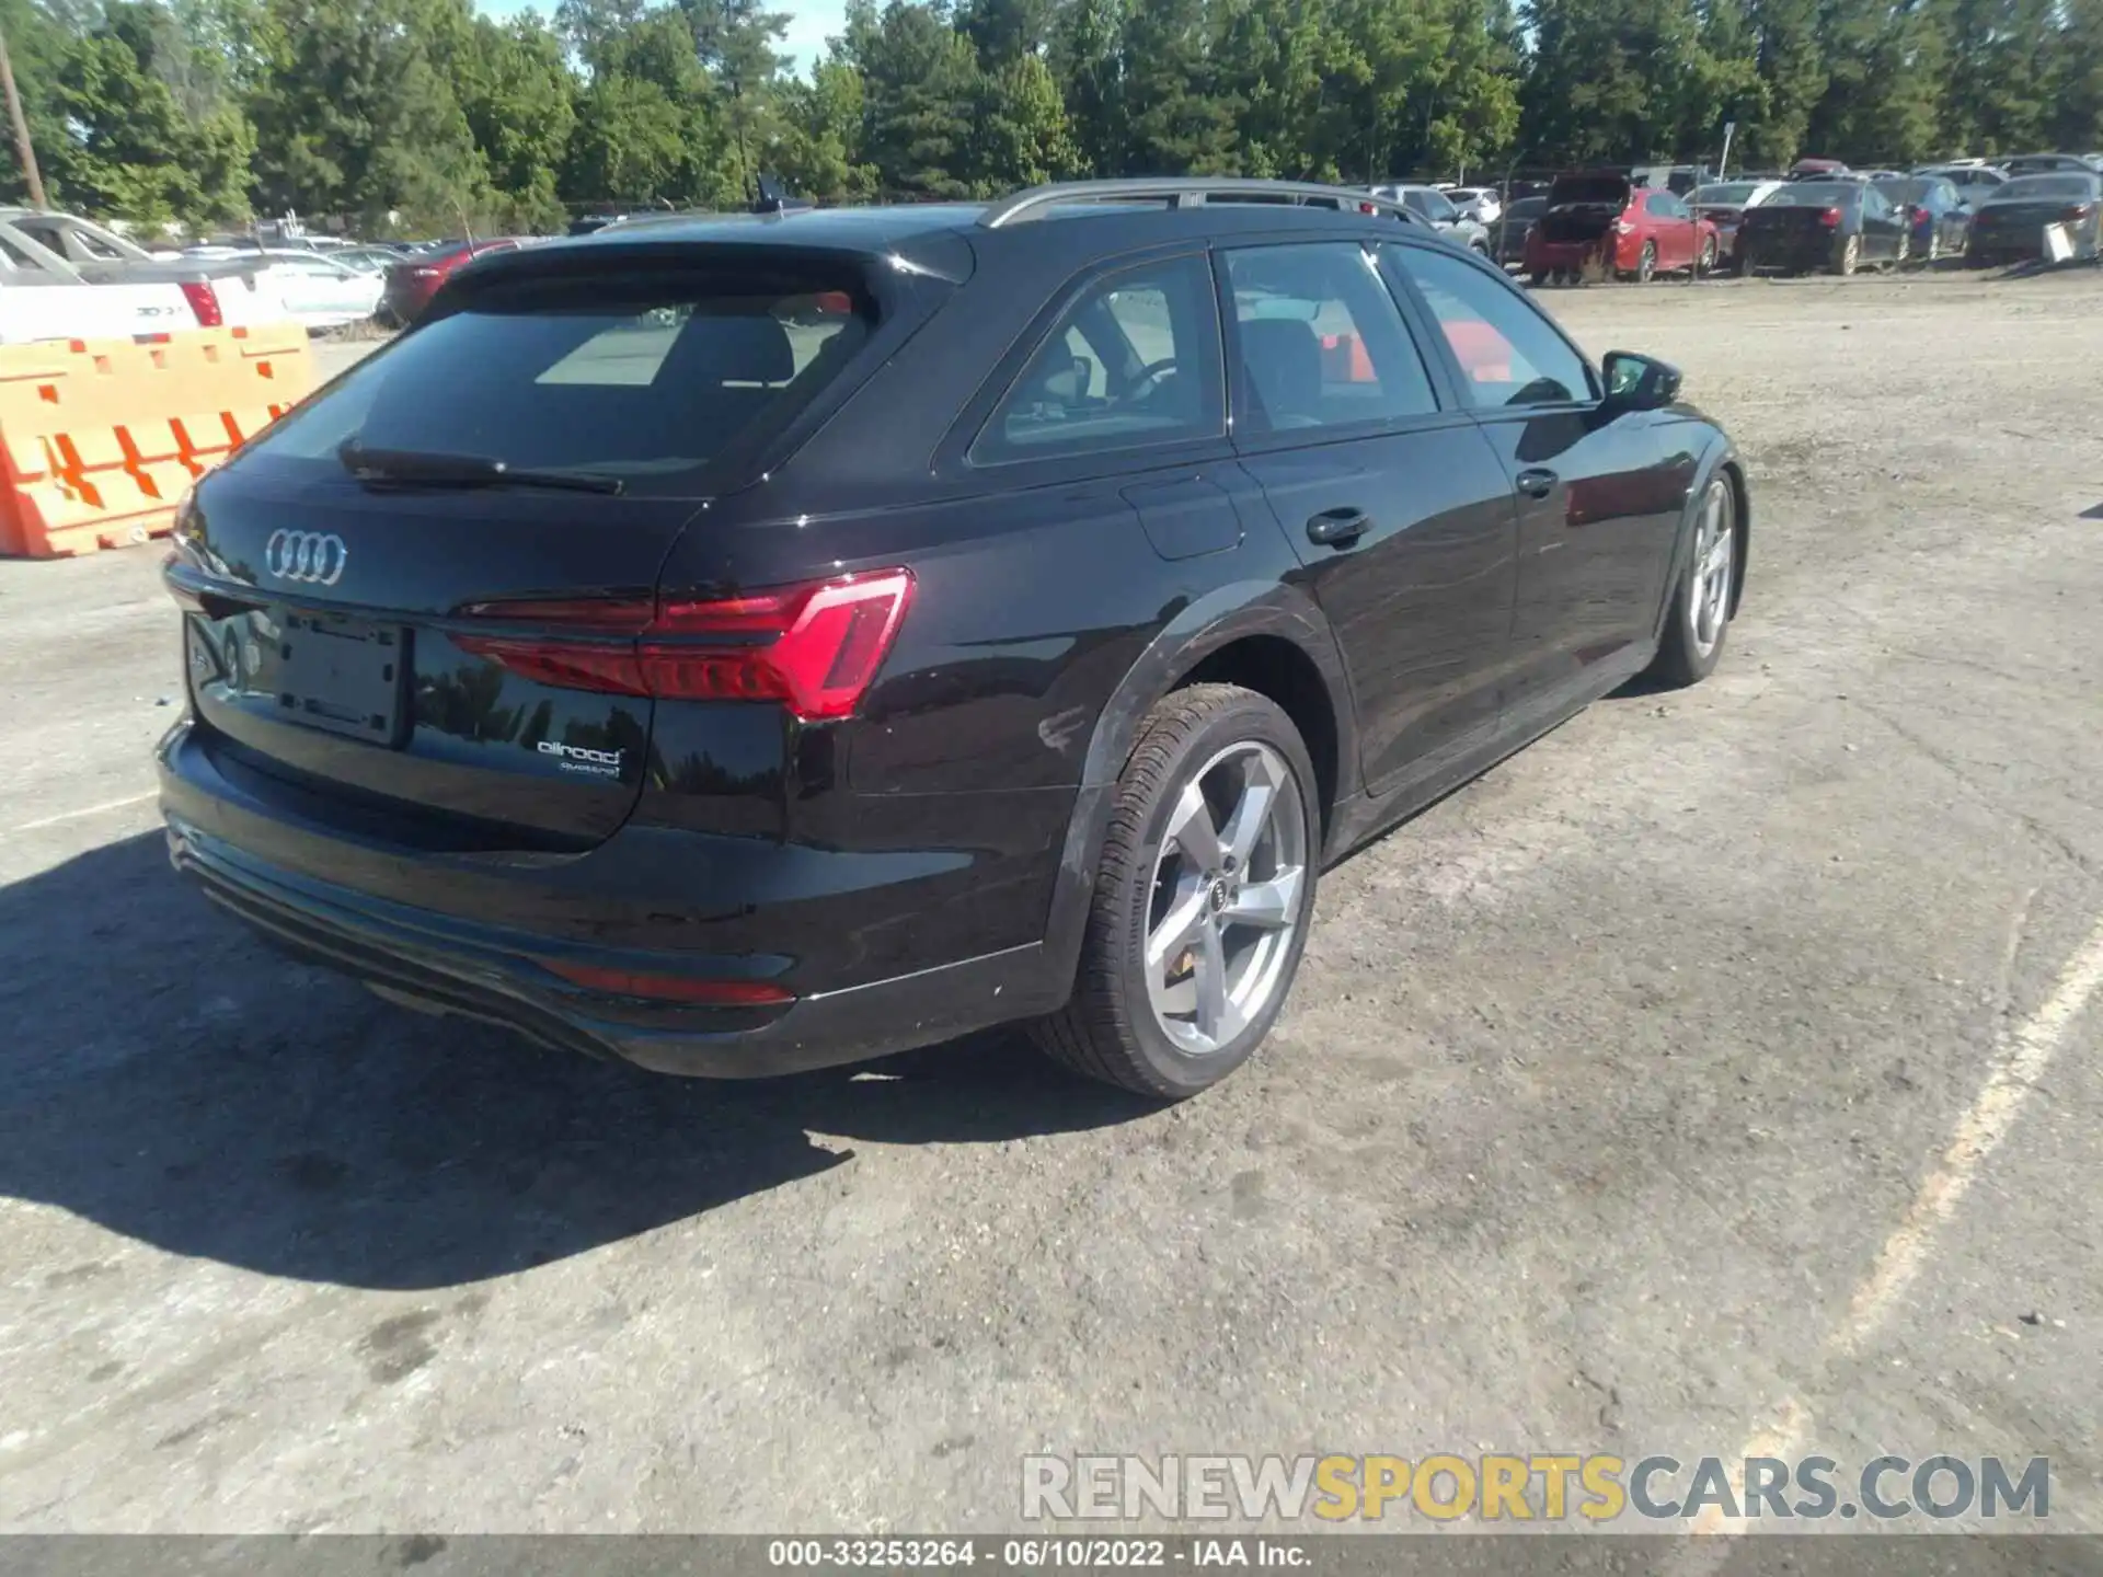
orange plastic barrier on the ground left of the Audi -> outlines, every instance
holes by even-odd
[[[0,553],[166,536],[189,484],[311,387],[299,324],[0,345]]]

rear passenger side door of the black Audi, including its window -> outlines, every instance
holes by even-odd
[[[1441,400],[1377,250],[1241,246],[1220,252],[1220,286],[1234,442],[1329,614],[1365,780],[1386,791],[1495,728],[1510,484]]]

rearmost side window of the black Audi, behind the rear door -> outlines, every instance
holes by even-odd
[[[1203,257],[1087,286],[972,444],[974,465],[1188,439],[1226,429],[1220,313]]]

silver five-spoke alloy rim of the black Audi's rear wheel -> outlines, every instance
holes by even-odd
[[[1270,1007],[1300,929],[1306,810],[1285,757],[1228,744],[1176,795],[1146,908],[1146,997],[1184,1056],[1228,1045]]]

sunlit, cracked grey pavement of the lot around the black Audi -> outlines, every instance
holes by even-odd
[[[1020,1037],[654,1081],[284,963],[166,871],[160,553],[0,564],[0,1527],[1764,1440],[2046,1455],[2103,1533],[2103,273],[1544,299],[1737,435],[1731,650],[1331,871],[1171,1110]]]

